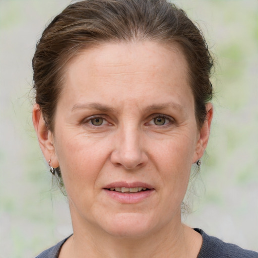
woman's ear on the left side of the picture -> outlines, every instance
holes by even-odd
[[[39,146],[46,161],[48,162],[51,160],[51,166],[58,167],[59,164],[55,153],[53,134],[47,128],[38,104],[33,106],[32,120],[38,137]]]

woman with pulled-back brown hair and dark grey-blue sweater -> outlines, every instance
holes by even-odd
[[[165,0],[89,0],[33,58],[33,122],[74,234],[38,257],[258,257],[181,223],[213,116],[201,32]]]

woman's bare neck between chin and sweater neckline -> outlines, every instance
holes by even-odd
[[[59,257],[100,258],[196,258],[202,236],[175,219],[155,233],[138,237],[112,236],[92,224],[77,227],[73,218],[74,235],[64,244]],[[78,222],[78,221],[77,221]]]

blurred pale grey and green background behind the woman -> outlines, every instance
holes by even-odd
[[[0,257],[34,257],[72,233],[31,122],[31,59],[68,0],[0,0]],[[258,251],[258,1],[178,0],[216,59],[215,116],[192,213],[210,235]],[[195,188],[195,189],[193,189]]]

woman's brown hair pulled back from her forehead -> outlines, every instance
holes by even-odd
[[[213,95],[213,59],[202,32],[185,12],[166,0],[87,0],[71,4],[57,15],[36,46],[33,87],[48,130],[54,132],[56,105],[69,61],[103,43],[137,41],[180,48],[188,63],[188,81],[201,128],[206,103]]]

